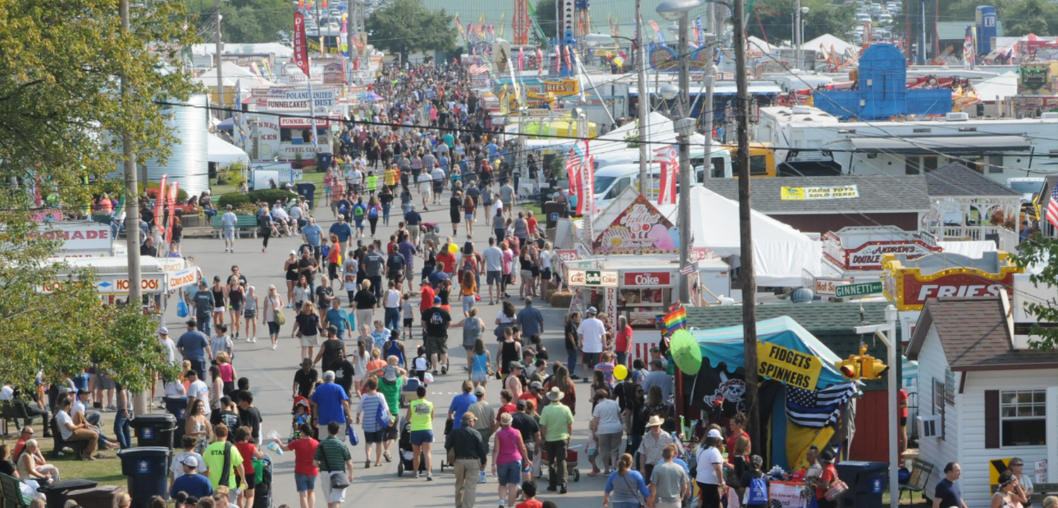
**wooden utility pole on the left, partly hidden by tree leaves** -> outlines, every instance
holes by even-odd
[[[129,31],[129,2],[122,0],[117,7],[122,16],[122,32]],[[122,107],[127,108],[132,98],[125,74],[121,78]],[[125,242],[128,250],[129,301],[133,309],[143,307],[143,288],[140,274],[140,188],[135,177],[135,147],[128,131],[122,133],[122,155],[125,158]],[[146,184],[146,180],[144,180]],[[159,199],[162,198],[159,189]],[[132,398],[132,411],[136,415],[147,413],[147,394],[140,392]]]

